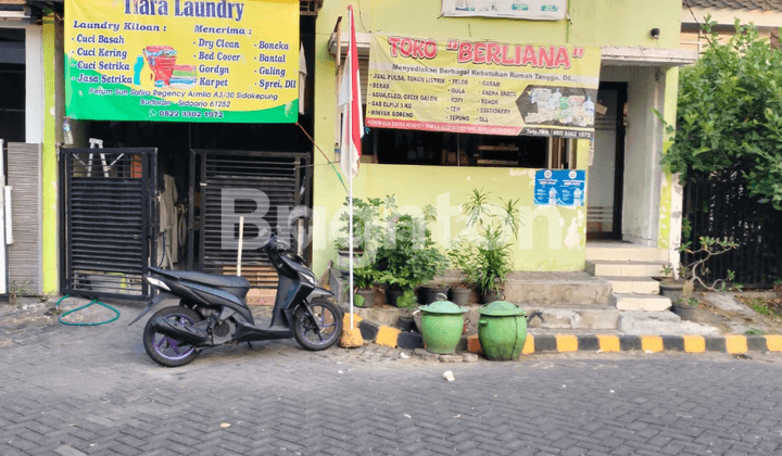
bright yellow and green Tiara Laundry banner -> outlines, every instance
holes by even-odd
[[[298,0],[65,0],[65,115],[294,123]]]

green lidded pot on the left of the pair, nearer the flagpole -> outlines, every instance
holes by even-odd
[[[426,349],[432,353],[449,354],[456,351],[466,308],[445,301],[436,301],[420,307],[421,335]]]

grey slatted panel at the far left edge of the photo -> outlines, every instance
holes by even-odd
[[[11,290],[42,294],[41,288],[41,149],[9,142],[8,185],[11,191],[13,244],[9,245]]]

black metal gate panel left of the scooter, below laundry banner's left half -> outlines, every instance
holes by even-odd
[[[156,149],[63,149],[61,292],[147,300],[156,264]]]

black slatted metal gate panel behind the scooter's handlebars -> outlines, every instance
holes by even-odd
[[[276,287],[277,275],[256,251],[261,241],[256,237],[270,229],[291,242],[294,251],[299,249],[295,220],[310,206],[308,164],[310,154],[303,152],[193,151],[189,225],[200,227],[199,267],[236,274],[239,216],[243,215],[242,276],[253,287]],[[188,237],[190,252],[195,241],[195,236]]]

